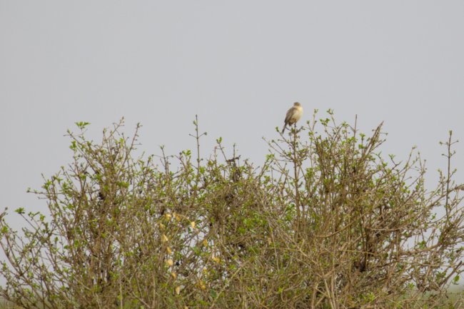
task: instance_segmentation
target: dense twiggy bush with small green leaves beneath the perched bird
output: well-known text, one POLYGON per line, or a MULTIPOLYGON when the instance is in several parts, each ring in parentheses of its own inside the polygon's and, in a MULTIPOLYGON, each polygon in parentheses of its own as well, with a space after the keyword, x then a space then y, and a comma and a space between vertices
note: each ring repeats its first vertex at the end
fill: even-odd
POLYGON ((21 308, 453 308, 463 209, 448 166, 434 190, 415 155, 381 156, 327 119, 268 141, 262 166, 228 156, 134 158, 121 123, 46 179, 49 216, 1 214, 1 290, 21 308), (318 131, 321 132, 318 132, 318 131), (171 165, 172 164, 172 165, 171 165), (174 166, 174 167, 173 167, 174 166), (443 210, 443 211, 440 211, 443 210))

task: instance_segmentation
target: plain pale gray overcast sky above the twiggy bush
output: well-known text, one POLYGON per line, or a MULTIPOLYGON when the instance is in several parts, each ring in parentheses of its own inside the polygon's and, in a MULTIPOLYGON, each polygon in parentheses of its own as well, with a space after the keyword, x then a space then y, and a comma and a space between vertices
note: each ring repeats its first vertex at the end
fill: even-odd
MULTIPOLYGON (((223 137, 263 161, 293 101, 333 108, 383 150, 417 145, 430 181, 445 167, 438 141, 453 129, 464 182, 464 1, 17 1, 0 0, 0 208, 71 161, 66 128, 89 134, 126 117, 141 147, 203 153, 223 137)), ((323 113, 321 113, 323 116, 323 113)))

